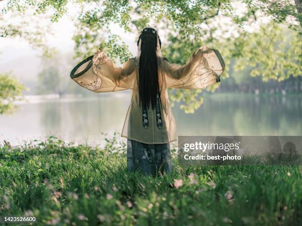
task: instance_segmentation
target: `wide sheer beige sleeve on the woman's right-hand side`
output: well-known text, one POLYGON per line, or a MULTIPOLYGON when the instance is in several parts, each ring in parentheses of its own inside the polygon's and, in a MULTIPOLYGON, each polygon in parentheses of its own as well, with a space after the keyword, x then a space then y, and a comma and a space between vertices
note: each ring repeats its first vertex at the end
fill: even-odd
POLYGON ((167 87, 175 89, 206 88, 220 82, 225 63, 216 49, 206 46, 196 50, 185 65, 163 61, 167 87))

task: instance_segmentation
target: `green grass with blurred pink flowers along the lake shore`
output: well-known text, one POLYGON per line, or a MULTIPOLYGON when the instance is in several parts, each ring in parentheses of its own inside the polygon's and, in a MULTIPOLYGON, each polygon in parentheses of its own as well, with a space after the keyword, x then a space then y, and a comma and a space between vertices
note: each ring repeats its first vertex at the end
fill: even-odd
POLYGON ((172 175, 151 178, 127 173, 125 148, 115 138, 100 149, 55 137, 1 146, 0 215, 35 216, 41 226, 302 222, 299 166, 178 166, 173 151, 172 175))

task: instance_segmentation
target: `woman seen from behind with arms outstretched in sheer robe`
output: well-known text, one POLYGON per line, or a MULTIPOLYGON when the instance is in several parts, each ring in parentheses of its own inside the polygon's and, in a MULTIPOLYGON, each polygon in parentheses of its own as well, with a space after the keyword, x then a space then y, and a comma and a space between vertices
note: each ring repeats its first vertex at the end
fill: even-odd
POLYGON ((218 50, 197 49, 185 65, 170 64, 161 56, 161 40, 153 28, 138 38, 137 57, 122 67, 101 48, 76 65, 71 78, 96 93, 131 90, 131 103, 122 129, 127 138, 127 169, 145 175, 171 173, 169 143, 177 139, 167 88, 198 89, 220 82, 225 69, 218 50))

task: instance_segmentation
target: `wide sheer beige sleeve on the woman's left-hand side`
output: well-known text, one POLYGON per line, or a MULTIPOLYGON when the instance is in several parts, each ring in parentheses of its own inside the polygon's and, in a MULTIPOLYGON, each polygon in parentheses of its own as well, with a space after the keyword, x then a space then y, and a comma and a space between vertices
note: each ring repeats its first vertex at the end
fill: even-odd
POLYGON ((135 87, 135 59, 129 59, 116 67, 101 48, 80 62, 71 71, 71 78, 88 90, 96 93, 114 92, 135 87))

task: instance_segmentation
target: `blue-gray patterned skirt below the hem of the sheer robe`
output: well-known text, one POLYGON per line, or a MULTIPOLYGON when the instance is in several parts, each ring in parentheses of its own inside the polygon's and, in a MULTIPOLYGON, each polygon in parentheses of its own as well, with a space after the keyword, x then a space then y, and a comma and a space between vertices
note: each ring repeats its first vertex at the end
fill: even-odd
POLYGON ((145 144, 127 139, 128 172, 140 171, 156 176, 172 171, 170 144, 145 144))

